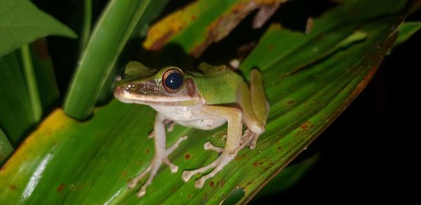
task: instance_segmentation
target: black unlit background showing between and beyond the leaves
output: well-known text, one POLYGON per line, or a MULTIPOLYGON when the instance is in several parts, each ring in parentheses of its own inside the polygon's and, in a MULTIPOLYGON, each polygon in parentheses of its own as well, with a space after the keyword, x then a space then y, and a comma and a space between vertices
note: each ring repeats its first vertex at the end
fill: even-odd
MULTIPOLYGON (((94 17, 106 2, 93 1, 94 17)), ((170 1, 165 12, 186 2, 170 1)), ((34 3, 79 33, 81 1, 35 0, 34 3)), ((330 1, 290 1, 281 6, 272 20, 302 30, 309 16, 316 17, 334 5, 330 1)), ((227 39, 210 46, 203 53, 203 60, 226 58, 234 50, 222 47, 236 48, 258 39, 265 29, 248 30, 251 20, 251 16, 246 18, 227 39)), ((408 20, 421 20, 420 12, 410 15, 408 20)), ((301 154, 304 156, 301 159, 316 152, 320 157, 298 184, 287 192, 256 198, 251 204, 406 204, 416 199, 420 192, 414 171, 420 161, 415 157, 420 123, 417 119, 420 103, 416 100, 420 93, 417 81, 420 41, 421 32, 418 32, 387 55, 363 93, 301 154)), ((48 43, 55 68, 60 67, 60 71, 56 70, 60 93, 65 93, 77 58, 77 41, 48 37, 48 43)))

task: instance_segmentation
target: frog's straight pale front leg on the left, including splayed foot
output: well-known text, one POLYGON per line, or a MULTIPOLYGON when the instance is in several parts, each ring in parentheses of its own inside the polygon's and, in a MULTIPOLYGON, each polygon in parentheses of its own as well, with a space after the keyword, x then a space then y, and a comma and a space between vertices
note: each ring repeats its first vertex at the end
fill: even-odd
POLYGON ((138 184, 139 180, 147 175, 150 172, 149 178, 147 179, 146 183, 140 188, 138 192, 138 197, 142 197, 146 193, 146 188, 151 185, 152 180, 156 176, 156 172, 158 171, 159 167, 162 163, 167 164, 171 168, 171 172, 175 173, 178 171, 178 166, 171 163, 170 159, 168 159, 168 155, 171 154, 175 150, 175 148, 180 145, 182 140, 186 140, 187 136, 182 136, 175 142, 171 147, 166 149, 166 131, 165 131, 165 122, 166 118, 163 117, 162 114, 157 113, 155 118, 155 125, 154 125, 154 144, 155 144, 155 155, 154 159, 152 159, 151 164, 142 171, 138 176, 133 178, 128 182, 128 187, 133 188, 135 185, 138 184))

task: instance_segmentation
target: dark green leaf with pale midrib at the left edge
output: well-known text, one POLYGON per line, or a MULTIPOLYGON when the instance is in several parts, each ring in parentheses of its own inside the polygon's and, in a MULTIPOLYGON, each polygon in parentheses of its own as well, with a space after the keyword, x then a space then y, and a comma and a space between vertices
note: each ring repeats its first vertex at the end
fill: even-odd
POLYGON ((22 48, 0 58, 0 72, 4 74, 0 81, 0 126, 13 145, 18 145, 58 99, 45 39, 22 48))

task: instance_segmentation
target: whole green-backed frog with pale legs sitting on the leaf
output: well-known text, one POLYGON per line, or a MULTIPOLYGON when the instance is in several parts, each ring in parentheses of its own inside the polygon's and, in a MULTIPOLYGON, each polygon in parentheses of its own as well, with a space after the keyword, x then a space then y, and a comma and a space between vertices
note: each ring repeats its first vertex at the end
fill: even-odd
POLYGON ((187 136, 166 147, 166 124, 173 122, 201 130, 227 124, 225 147, 209 141, 203 145, 204 150, 218 152, 218 158, 201 168, 182 172, 185 182, 196 174, 203 175, 194 182, 197 188, 203 187, 206 180, 225 168, 244 147, 255 148, 259 135, 265 131, 269 102, 258 69, 250 71, 250 84, 237 70, 206 62, 195 70, 182 70, 175 66, 152 69, 131 61, 123 71, 122 78, 114 86, 115 98, 125 103, 149 105, 156 110, 150 135, 154 138, 154 158, 145 170, 128 181, 128 188, 134 188, 149 173, 137 192, 138 197, 145 195, 162 164, 169 166, 172 173, 178 172, 178 166, 168 156, 187 140, 187 136))

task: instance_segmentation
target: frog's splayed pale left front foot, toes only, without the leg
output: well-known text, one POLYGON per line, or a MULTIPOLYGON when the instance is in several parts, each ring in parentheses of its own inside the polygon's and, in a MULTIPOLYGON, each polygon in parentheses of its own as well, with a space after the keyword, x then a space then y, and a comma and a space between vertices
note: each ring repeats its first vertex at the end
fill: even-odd
POLYGON ((150 173, 149 178, 147 179, 146 183, 142 185, 142 187, 140 188, 137 194, 138 197, 143 197, 143 195, 145 195, 146 188, 149 185, 151 185, 152 180, 156 176, 156 172, 158 171, 162 163, 167 164, 171 168, 172 173, 175 173, 178 171, 178 166, 171 163, 170 159, 168 159, 168 155, 170 155, 175 150, 175 148, 177 148, 178 145, 180 145, 180 143, 183 140, 187 140, 187 136, 182 136, 181 138, 177 140, 177 142, 175 142, 173 145, 171 145, 171 147, 169 147, 166 150, 155 150, 155 156, 154 156, 154 159, 152 159, 152 163, 145 169, 145 171, 142 171, 142 173, 140 173, 138 176, 128 181, 128 187, 133 188, 138 184, 138 182, 143 177, 147 175, 147 173, 150 173))

